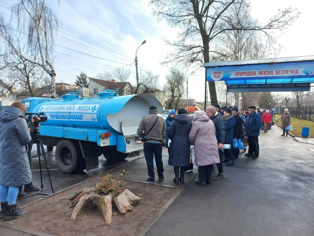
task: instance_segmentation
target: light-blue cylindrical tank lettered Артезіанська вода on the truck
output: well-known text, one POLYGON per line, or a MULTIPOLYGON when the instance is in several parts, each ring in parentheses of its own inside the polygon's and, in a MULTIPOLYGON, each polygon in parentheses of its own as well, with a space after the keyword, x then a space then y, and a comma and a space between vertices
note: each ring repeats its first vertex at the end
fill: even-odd
POLYGON ((133 120, 133 126, 138 127, 140 120, 149 115, 151 105, 159 112, 162 110, 161 103, 147 94, 117 96, 114 91, 106 90, 98 96, 78 98, 72 94, 63 95, 62 99, 38 104, 31 112, 45 113, 48 121, 41 123, 42 126, 111 129, 123 133, 122 120, 133 120))

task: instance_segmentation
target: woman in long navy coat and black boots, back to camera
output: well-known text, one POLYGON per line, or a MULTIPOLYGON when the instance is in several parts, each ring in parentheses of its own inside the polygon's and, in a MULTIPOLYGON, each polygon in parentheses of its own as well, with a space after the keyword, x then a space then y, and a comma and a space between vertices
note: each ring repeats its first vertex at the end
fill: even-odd
POLYGON ((168 130, 168 137, 171 140, 169 161, 168 164, 173 166, 175 178, 173 182, 184 182, 185 167, 190 164, 190 140, 189 133, 192 127, 192 122, 187 116, 187 111, 181 108, 178 115, 173 118, 173 121, 168 130), (180 169, 180 178, 179 178, 180 169))

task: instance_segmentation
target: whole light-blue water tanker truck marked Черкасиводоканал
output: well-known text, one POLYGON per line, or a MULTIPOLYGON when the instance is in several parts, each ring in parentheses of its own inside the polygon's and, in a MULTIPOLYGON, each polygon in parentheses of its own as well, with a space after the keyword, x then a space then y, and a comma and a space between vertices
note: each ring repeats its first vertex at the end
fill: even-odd
POLYGON ((118 96, 109 89, 97 98, 70 92, 61 99, 26 98, 22 103, 28 112, 48 117, 40 133, 48 151, 56 146, 56 163, 64 173, 98 168, 101 155, 112 162, 138 155, 143 149, 136 133, 139 122, 151 105, 162 110, 153 96, 118 96))

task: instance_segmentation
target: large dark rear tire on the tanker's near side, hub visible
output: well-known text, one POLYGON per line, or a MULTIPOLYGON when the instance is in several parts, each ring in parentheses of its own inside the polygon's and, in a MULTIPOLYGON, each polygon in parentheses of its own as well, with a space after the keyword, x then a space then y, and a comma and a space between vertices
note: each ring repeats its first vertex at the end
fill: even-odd
POLYGON ((71 174, 86 169, 86 162, 78 143, 68 139, 59 141, 56 147, 56 163, 60 171, 71 174))

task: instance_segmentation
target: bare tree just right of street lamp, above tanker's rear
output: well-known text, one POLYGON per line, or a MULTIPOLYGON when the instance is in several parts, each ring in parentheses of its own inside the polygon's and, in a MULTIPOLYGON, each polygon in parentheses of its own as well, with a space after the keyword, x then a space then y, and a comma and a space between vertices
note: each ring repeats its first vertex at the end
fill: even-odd
POLYGON ((138 86, 135 87, 134 93, 154 93, 160 90, 159 75, 153 74, 150 70, 142 70, 138 86))

